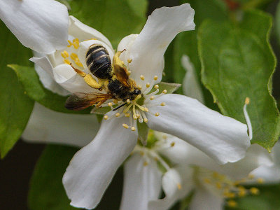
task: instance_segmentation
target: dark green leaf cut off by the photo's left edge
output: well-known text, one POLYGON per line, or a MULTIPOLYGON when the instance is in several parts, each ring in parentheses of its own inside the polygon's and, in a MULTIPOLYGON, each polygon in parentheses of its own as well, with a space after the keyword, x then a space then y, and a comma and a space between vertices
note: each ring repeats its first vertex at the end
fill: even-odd
POLYGON ((31 64, 31 50, 22 46, 0 21, 0 153, 3 158, 25 130, 34 102, 7 64, 31 64))

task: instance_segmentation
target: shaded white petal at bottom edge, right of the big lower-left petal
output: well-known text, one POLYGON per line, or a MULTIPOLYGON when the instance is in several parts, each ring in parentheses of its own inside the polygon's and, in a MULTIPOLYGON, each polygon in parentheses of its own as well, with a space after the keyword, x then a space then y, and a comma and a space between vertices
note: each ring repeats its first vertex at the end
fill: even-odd
POLYGON ((136 153, 125 163, 120 209, 146 210, 148 202, 160 196, 162 174, 155 160, 149 160, 148 165, 144 166, 144 158, 136 153))

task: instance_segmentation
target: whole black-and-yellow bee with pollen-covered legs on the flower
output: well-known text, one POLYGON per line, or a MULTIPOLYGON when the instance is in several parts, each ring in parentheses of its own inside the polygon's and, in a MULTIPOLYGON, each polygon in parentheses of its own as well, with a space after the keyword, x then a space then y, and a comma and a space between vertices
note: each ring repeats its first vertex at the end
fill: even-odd
POLYGON ((109 52, 104 46, 97 44, 90 45, 85 55, 85 62, 90 73, 98 78, 98 82, 91 74, 80 71, 71 64, 72 68, 80 76, 83 76, 87 85, 100 91, 105 90, 106 93, 75 92, 66 100, 66 109, 82 110, 92 105, 98 108, 109 99, 117 99, 118 101, 125 102, 116 109, 113 109, 117 110, 126 104, 127 99, 132 101, 137 95, 141 94, 141 90, 139 90, 135 81, 129 77, 125 64, 120 59, 122 52, 116 52, 113 56, 113 64, 111 64, 109 52))

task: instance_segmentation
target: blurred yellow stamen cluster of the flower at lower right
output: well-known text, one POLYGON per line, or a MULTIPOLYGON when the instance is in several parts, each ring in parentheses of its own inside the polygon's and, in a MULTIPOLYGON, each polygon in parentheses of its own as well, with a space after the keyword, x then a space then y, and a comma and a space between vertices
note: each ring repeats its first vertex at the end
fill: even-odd
POLYGON ((199 168, 202 174, 202 182, 204 186, 209 188, 213 193, 224 197, 228 200, 229 207, 236 207, 235 197, 244 197, 246 195, 258 195, 258 188, 245 188, 242 186, 247 181, 256 181, 257 183, 263 183, 263 179, 255 179, 253 174, 249 174, 246 178, 232 181, 228 176, 224 174, 218 174, 217 172, 211 172, 208 169, 199 168))

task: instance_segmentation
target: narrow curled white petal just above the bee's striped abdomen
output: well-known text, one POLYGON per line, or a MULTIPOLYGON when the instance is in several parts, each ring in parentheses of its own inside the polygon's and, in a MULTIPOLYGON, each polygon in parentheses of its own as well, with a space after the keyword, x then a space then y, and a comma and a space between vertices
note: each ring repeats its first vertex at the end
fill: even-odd
POLYGON ((69 20, 69 34, 74 38, 79 38, 80 41, 86 41, 95 38, 99 41, 103 41, 104 43, 109 45, 111 49, 113 49, 108 38, 106 38, 106 36, 97 31, 97 29, 93 29, 92 27, 83 24, 83 22, 80 22, 80 20, 73 16, 69 16, 69 20))

